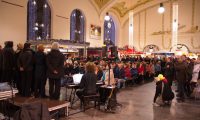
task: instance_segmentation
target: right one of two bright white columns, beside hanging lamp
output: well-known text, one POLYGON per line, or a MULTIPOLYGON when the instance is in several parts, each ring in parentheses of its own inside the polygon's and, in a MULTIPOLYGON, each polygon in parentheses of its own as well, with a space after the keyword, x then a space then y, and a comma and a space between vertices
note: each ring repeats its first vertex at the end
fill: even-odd
POLYGON ((172 47, 178 44, 178 3, 173 3, 172 16, 172 47))

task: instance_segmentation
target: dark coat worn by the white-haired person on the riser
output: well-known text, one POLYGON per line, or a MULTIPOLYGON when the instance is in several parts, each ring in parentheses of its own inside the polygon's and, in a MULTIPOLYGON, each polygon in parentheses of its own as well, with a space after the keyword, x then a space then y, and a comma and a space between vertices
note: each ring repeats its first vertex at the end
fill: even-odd
POLYGON ((47 54, 47 76, 53 79, 60 79, 64 76, 64 55, 59 50, 51 50, 47 54), (58 73, 55 74, 54 71, 58 73))

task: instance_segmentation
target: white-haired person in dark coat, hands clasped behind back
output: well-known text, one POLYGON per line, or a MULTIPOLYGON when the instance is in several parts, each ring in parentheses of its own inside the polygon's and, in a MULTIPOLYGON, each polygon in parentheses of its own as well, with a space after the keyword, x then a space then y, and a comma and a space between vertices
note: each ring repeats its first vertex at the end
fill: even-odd
POLYGON ((61 78, 64 76, 64 60, 64 55, 59 51, 59 44, 54 42, 46 60, 50 99, 59 99, 60 97, 61 78))

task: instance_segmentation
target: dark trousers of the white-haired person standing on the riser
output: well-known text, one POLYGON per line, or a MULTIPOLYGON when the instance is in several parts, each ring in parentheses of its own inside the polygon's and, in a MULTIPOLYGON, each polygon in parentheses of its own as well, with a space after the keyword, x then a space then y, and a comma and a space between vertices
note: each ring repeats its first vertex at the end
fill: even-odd
POLYGON ((49 95, 51 99, 58 100, 60 97, 61 79, 49 78, 49 95))

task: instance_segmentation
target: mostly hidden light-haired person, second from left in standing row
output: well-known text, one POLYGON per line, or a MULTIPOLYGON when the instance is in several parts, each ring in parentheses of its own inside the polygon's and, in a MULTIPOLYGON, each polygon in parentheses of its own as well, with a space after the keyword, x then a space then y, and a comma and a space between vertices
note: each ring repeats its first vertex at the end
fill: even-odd
POLYGON ((14 74, 14 81, 16 83, 17 89, 19 91, 19 94, 21 94, 21 75, 20 75, 20 69, 17 66, 17 61, 19 58, 19 55, 21 54, 23 50, 23 44, 18 44, 17 45, 17 50, 15 51, 15 74, 14 74))

